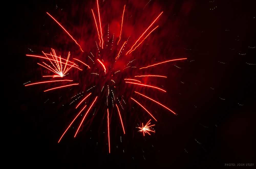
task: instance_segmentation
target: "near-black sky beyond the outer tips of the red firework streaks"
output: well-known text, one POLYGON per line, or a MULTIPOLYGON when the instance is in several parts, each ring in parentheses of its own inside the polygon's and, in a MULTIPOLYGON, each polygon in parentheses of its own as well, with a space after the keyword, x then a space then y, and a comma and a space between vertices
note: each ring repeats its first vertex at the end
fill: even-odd
POLYGON ((136 133, 122 137, 120 143, 120 133, 113 135, 112 144, 119 148, 112 148, 111 154, 107 139, 98 137, 97 129, 91 131, 97 123, 77 139, 67 133, 57 144, 68 123, 62 116, 66 107, 61 108, 63 102, 52 103, 55 96, 45 103, 47 94, 23 85, 37 73, 36 62, 25 54, 34 42, 40 44, 38 27, 47 17, 45 12, 53 11, 57 4, 68 13, 72 2, 10 5, 12 12, 5 13, 8 64, 3 72, 8 109, 3 113, 10 116, 6 128, 11 129, 7 144, 8 158, 14 161, 11 165, 216 168, 225 163, 255 162, 255 3, 177 1, 171 2, 173 10, 164 1, 153 0, 148 5, 156 2, 170 20, 178 22, 177 35, 183 41, 179 48, 188 57, 181 72, 170 66, 177 72, 172 83, 178 87, 172 97, 179 115, 161 119, 156 134, 145 139, 136 133))

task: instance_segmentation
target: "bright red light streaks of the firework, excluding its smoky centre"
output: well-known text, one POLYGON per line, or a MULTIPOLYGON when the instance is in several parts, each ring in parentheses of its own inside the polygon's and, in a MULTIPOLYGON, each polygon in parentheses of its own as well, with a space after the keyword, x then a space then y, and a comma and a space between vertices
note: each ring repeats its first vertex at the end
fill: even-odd
MULTIPOLYGON (((95 18, 93 9, 91 9, 91 11, 92 11, 93 19, 94 19, 94 21, 95 21, 95 26, 96 26, 96 30, 97 30, 97 33, 98 33, 98 37, 99 37, 99 46, 103 49, 103 45, 104 45, 103 42, 104 42, 104 40, 103 40, 103 34, 102 34, 102 26, 101 26, 100 10, 99 10, 98 0, 97 0, 97 11, 98 11, 98 19, 99 19, 98 23, 99 23, 99 24, 97 24, 97 19, 95 18), (100 31, 99 31, 99 30, 100 30, 100 31)), ((122 21, 121 21, 121 30, 120 30, 120 35, 119 35, 119 40, 118 40, 118 42, 117 42, 117 45, 118 45, 119 41, 121 40, 121 33, 122 33, 122 27, 123 27, 124 13, 125 13, 125 5, 124 5, 124 8, 123 8, 123 15, 122 15, 122 21)), ((126 53, 125 55, 130 54, 131 52, 133 52, 133 51, 134 51, 140 44, 142 44, 143 41, 158 27, 158 26, 156 26, 156 27, 155 27, 154 29, 152 29, 150 32, 148 31, 149 29, 151 29, 151 26, 156 22, 156 20, 162 15, 162 13, 163 13, 163 12, 161 12, 161 13, 155 18, 155 20, 147 27, 147 29, 142 33, 142 35, 137 39, 137 41, 134 43, 134 45, 131 47, 131 49, 130 49, 129 51, 127 51, 127 53, 126 53), (148 33, 147 35, 144 35, 144 34, 146 34, 146 32, 149 32, 149 33, 148 33)), ((80 50, 83 52, 81 46, 80 46, 80 45, 78 44, 78 42, 70 35, 70 33, 69 33, 54 17, 52 17, 48 12, 47 12, 47 14, 48 14, 48 15, 49 15, 49 16, 50 16, 50 17, 51 17, 51 18, 52 18, 52 19, 53 19, 53 20, 54 20, 71 38, 72 38, 72 40, 79 46, 80 50)), ((120 48, 120 50, 117 50, 117 51, 119 51, 119 53, 118 53, 117 56, 115 57, 115 60, 117 60, 117 59, 120 57, 120 55, 121 55, 121 54, 120 54, 120 53, 121 53, 121 50, 123 49, 123 47, 124 47, 124 45, 125 45, 126 43, 127 43, 127 40, 124 41, 124 43, 122 43, 123 45, 122 45, 122 47, 120 48)), ((86 64, 86 63, 84 63, 83 61, 80 61, 80 60, 78 60, 78 59, 76 59, 76 58, 72 58, 72 59, 73 59, 72 61, 74 61, 74 62, 71 62, 71 61, 70 61, 70 52, 68 53, 66 59, 64 59, 64 58, 61 57, 60 55, 57 56, 57 54, 56 54, 56 52, 55 52, 54 49, 51 49, 51 52, 50 52, 50 53, 44 53, 44 52, 42 52, 42 53, 44 54, 44 56, 27 54, 27 56, 29 56, 29 57, 37 57, 37 58, 41 58, 41 59, 44 59, 44 60, 46 60, 46 61, 49 62, 48 64, 45 63, 45 62, 37 63, 38 65, 40 65, 40 66, 46 68, 47 70, 49 70, 49 71, 52 73, 52 75, 47 75, 47 76, 42 76, 42 77, 64 78, 65 76, 68 75, 68 72, 69 72, 71 69, 72 69, 73 71, 75 71, 75 70, 82 71, 82 69, 81 69, 82 66, 85 67, 85 68, 88 68, 88 69, 91 68, 91 67, 89 66, 89 64, 86 64), (77 62, 77 63, 75 63, 75 62, 77 62), (82 64, 82 66, 81 66, 81 65, 79 66, 79 64, 82 64)), ((89 56, 88 56, 88 57, 89 57, 89 56)), ((94 57, 94 56, 93 56, 93 57, 94 57)), ((95 57, 94 57, 94 58, 95 58, 95 57)), ((90 58, 90 59, 91 59, 91 58, 90 58)), ((139 69, 145 69, 145 68, 148 68, 148 67, 156 66, 156 65, 159 65, 159 64, 167 63, 167 62, 179 61, 179 60, 185 60, 185 59, 187 59, 187 58, 180 58, 180 59, 167 60, 167 61, 163 61, 163 62, 161 62, 161 63, 149 65, 149 66, 146 66, 146 67, 141 67, 141 68, 139 68, 139 69)), ((91 59, 91 60, 92 60, 92 59, 91 59)), ((100 64, 101 67, 103 68, 105 74, 107 73, 107 71, 111 71, 111 70, 109 70, 108 67, 106 67, 106 66, 104 65, 104 62, 103 62, 102 59, 97 58, 97 59, 95 59, 95 60, 97 60, 97 61, 99 62, 99 64, 100 64), (108 70, 107 70, 107 69, 108 69, 108 70)), ((93 60, 92 60, 92 61, 93 61, 93 60)), ((129 63, 130 63, 130 62, 129 62, 129 63)), ((128 63, 128 64, 129 64, 129 63, 128 63)), ((94 62, 93 62, 93 64, 94 64, 94 62)), ((128 65, 128 64, 127 64, 127 65, 128 65)), ((95 66, 97 66, 97 64, 95 64, 95 66)), ((120 71, 117 71, 117 72, 120 72, 120 71)), ((117 73, 117 72, 115 72, 115 73, 117 73)), ((114 73, 114 74, 115 74, 115 73, 114 73)), ((99 75, 99 74, 97 74, 97 73, 91 73, 91 74, 99 75)), ((129 84, 129 85, 136 85, 136 86, 140 86, 140 87, 151 88, 151 89, 153 89, 153 90, 154 90, 154 89, 157 89, 157 90, 159 90, 160 92, 166 92, 164 89, 161 89, 161 88, 156 87, 156 86, 144 84, 144 83, 142 83, 140 80, 134 79, 134 78, 140 78, 140 77, 142 77, 142 78, 143 78, 143 77, 167 78, 167 76, 163 76, 163 75, 136 75, 136 76, 134 76, 134 77, 127 77, 127 78, 125 78, 125 79, 124 79, 124 82, 125 82, 124 84, 127 84, 127 85, 128 85, 128 84, 129 84)), ((48 81, 41 81, 41 82, 30 83, 30 84, 27 84, 27 85, 25 85, 25 86, 31 86, 31 85, 37 85, 37 84, 44 84, 44 83, 50 83, 50 84, 51 84, 51 83, 55 83, 55 82, 71 82, 71 81, 73 81, 73 80, 48 80, 48 81)), ((114 81, 113 79, 111 79, 111 81, 112 81, 113 83, 115 83, 115 81, 114 81)), ((51 89, 47 89, 47 90, 45 90, 45 92, 46 92, 46 91, 50 91, 50 90, 55 90, 55 89, 58 89, 58 88, 66 88, 66 87, 73 86, 73 85, 79 85, 79 84, 78 84, 78 83, 66 84, 66 85, 63 85, 63 86, 58 86, 58 87, 54 87, 54 88, 51 88, 51 89)), ((109 96, 109 94, 110 94, 110 88, 109 88, 108 85, 105 85, 105 84, 104 84, 104 86, 107 86, 108 96, 109 96)), ((102 89, 100 88, 100 89, 101 89, 101 92, 102 92, 104 86, 102 87, 102 89)), ((106 87, 105 87, 105 88, 106 88, 106 87)), ((112 90, 111 90, 111 92, 112 92, 112 90)), ((138 96, 142 96, 143 98, 148 99, 148 100, 150 100, 150 101, 153 101, 154 103, 156 103, 156 104, 158 104, 158 105, 164 107, 164 108, 167 109, 168 111, 172 112, 174 115, 176 114, 173 110, 171 110, 170 108, 164 106, 163 104, 159 103, 158 101, 154 100, 153 98, 150 98, 150 97, 146 96, 145 94, 139 93, 139 92, 137 92, 137 91, 134 91, 134 93, 137 94, 138 96)), ((112 95, 113 95, 113 97, 111 96, 111 98, 112 98, 112 103, 113 103, 113 99, 115 100, 115 98, 117 98, 117 97, 114 96, 114 93, 113 93, 113 92, 112 92, 112 95)), ((91 97, 91 96, 92 96, 92 93, 89 93, 88 95, 86 95, 86 97, 84 97, 84 98, 76 105, 76 109, 77 109, 79 106, 81 107, 81 105, 83 105, 83 103, 84 103, 84 100, 86 100, 88 97, 91 97)), ((107 96, 107 104, 108 104, 108 96, 107 96)), ((61 141, 61 139, 63 138, 63 136, 65 135, 65 133, 68 131, 68 129, 70 128, 70 126, 73 124, 73 122, 74 122, 74 121, 78 118, 78 116, 83 112, 83 110, 89 107, 89 108, 87 109, 86 113, 84 114, 84 116, 83 116, 83 118, 82 118, 82 120, 81 120, 81 122, 80 122, 80 125, 79 125, 79 127, 77 128, 77 130, 76 130, 76 133, 74 134, 74 137, 77 136, 77 134, 78 134, 78 132, 79 132, 79 130, 80 130, 82 124, 83 124, 83 121, 85 120, 85 118, 86 118, 86 116, 87 116, 87 114, 89 113, 89 111, 90 111, 90 109, 92 108, 92 106, 95 106, 96 101, 97 101, 97 98, 99 98, 99 94, 97 94, 97 96, 93 96, 92 102, 91 102, 91 104, 90 104, 89 106, 87 106, 87 105, 83 105, 83 106, 82 106, 81 110, 80 110, 80 111, 78 112, 78 114, 74 117, 74 119, 72 120, 72 122, 68 125, 67 129, 64 131, 64 133, 63 133, 63 134, 61 135, 61 137, 59 138, 58 143, 61 141)), ((143 106, 140 102, 138 102, 137 100, 135 100, 135 99, 132 98, 132 97, 130 97, 130 99, 131 99, 132 101, 134 101, 136 104, 138 104, 142 109, 144 109, 144 110, 148 113, 148 115, 149 115, 150 117, 152 117, 155 121, 157 121, 156 118, 152 115, 152 113, 151 113, 149 110, 147 110, 147 109, 145 108, 145 105, 143 106)), ((117 110, 118 115, 119 115, 119 118, 120 118, 121 128, 122 128, 122 130, 123 130, 123 134, 125 134, 125 126, 124 126, 124 124, 123 124, 122 114, 120 113, 118 104, 120 104, 120 102, 116 102, 115 107, 116 107, 116 110, 117 110)), ((120 104, 120 106, 122 107, 121 104, 120 104)), ((114 103, 113 103, 113 107, 114 107, 114 103)), ((123 108, 123 107, 122 107, 122 108, 123 108)), ((108 124, 108 126, 107 126, 107 127, 108 127, 108 142, 109 142, 108 145, 109 145, 109 153, 110 153, 110 126, 109 126, 109 124, 110 124, 110 119, 109 119, 109 108, 107 108, 107 111, 106 111, 106 112, 107 112, 107 120, 108 120, 108 122, 107 122, 107 124, 108 124)), ((150 125, 150 124, 151 124, 150 121, 151 121, 151 120, 149 120, 149 121, 146 123, 146 125, 143 126, 143 123, 142 123, 142 127, 138 127, 139 129, 141 129, 141 130, 139 130, 139 131, 140 131, 140 132, 143 132, 143 135, 145 135, 145 133, 147 133, 147 134, 150 135, 150 132, 155 132, 155 131, 151 130, 151 127, 154 126, 154 125, 150 125)))

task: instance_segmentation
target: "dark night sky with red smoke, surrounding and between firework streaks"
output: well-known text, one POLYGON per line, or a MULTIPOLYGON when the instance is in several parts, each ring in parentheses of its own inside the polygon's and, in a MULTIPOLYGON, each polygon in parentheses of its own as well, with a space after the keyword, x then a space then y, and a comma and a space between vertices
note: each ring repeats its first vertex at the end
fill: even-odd
MULTIPOLYGON (((27 83, 46 80, 42 77, 45 69, 37 65, 42 61, 26 54, 42 55, 42 50, 49 52, 54 48, 64 57, 68 51, 72 57, 80 59, 90 52, 96 57, 95 41, 98 43, 99 39, 91 8, 97 12, 97 2, 27 1, 12 4, 13 13, 6 16, 6 25, 9 26, 5 27, 8 35, 5 43, 8 47, 6 72, 3 72, 7 77, 4 81, 7 84, 5 100, 8 109, 2 112, 9 116, 10 122, 5 128, 11 130, 8 157, 14 164, 58 168, 216 168, 225 167, 225 163, 254 163, 255 3, 221 0, 99 1, 104 38, 108 38, 106 32, 109 27, 109 41, 113 36, 114 40, 119 37, 124 5, 126 12, 120 43, 129 37, 125 51, 164 11, 153 26, 159 25, 156 31, 131 54, 131 58, 123 55, 123 60, 120 60, 126 63, 137 58, 135 66, 142 67, 187 58, 148 70, 148 73, 168 77, 165 80, 154 78, 152 82, 166 89, 167 93, 154 89, 142 91, 161 100, 178 115, 139 99, 156 116, 157 122, 153 121, 129 99, 130 95, 134 98, 135 95, 127 91, 141 88, 121 85, 121 95, 129 96, 124 97, 126 105, 121 109, 126 134, 122 133, 116 110, 110 108, 110 154, 107 106, 103 97, 91 110, 78 136, 74 138, 81 118, 57 143, 78 112, 75 109, 78 100, 85 96, 93 83, 101 84, 102 81, 94 80, 94 76, 84 71, 72 69, 67 76, 86 85, 49 93, 44 90, 56 85, 25 87, 27 83), (69 30, 84 49, 83 53, 46 12, 69 30), (143 136, 136 127, 150 119, 156 124, 153 128, 155 133, 143 136)), ((105 43, 108 44, 107 40, 105 43)), ((120 44, 113 48, 120 49, 120 44)), ((103 51, 101 57, 105 61, 112 54, 103 51)), ((89 58, 86 61, 93 65, 89 58)), ((101 69, 98 66, 95 70, 101 69)), ((132 73, 136 74, 135 70, 131 69, 125 75, 132 73)), ((121 82, 116 82, 116 86, 118 84, 121 82)), ((97 90, 95 88, 94 91, 97 90)), ((112 107, 112 103, 109 104, 112 107)))

